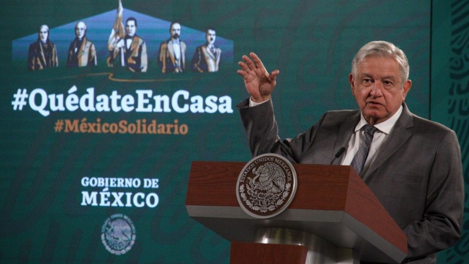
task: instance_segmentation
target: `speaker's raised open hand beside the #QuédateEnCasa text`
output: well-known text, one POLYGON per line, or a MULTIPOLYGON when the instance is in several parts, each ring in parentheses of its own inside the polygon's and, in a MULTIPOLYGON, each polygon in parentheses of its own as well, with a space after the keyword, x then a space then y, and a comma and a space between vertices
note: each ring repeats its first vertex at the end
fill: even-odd
POLYGON ((270 99, 276 85, 275 78, 280 71, 274 70, 269 74, 254 52, 249 55, 252 60, 243 55, 244 62, 238 62, 241 69, 236 72, 243 77, 244 85, 252 100, 256 103, 264 102, 270 99))

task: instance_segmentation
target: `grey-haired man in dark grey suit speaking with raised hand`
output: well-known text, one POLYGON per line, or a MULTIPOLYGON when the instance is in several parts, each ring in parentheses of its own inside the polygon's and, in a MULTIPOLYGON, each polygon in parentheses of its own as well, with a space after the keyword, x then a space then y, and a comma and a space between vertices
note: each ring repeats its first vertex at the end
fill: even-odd
POLYGON ((253 156, 277 153, 298 163, 354 167, 407 236, 405 262, 435 263, 435 253, 459 239, 464 183, 458 139, 408 110, 412 82, 401 49, 365 44, 349 75, 360 110, 328 111, 308 131, 283 141, 271 101, 279 71, 269 74, 254 53, 251 59, 243 56, 237 72, 251 95, 238 108, 253 156), (334 158, 342 147, 346 151, 334 158))

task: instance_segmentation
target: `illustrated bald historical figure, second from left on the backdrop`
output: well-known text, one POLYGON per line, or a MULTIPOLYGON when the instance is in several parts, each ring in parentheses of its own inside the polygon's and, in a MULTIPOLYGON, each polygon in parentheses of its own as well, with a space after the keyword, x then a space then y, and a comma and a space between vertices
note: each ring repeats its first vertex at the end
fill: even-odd
POLYGON ((96 47, 86 38, 85 22, 75 25, 75 40, 70 43, 67 56, 67 67, 96 66, 96 47))

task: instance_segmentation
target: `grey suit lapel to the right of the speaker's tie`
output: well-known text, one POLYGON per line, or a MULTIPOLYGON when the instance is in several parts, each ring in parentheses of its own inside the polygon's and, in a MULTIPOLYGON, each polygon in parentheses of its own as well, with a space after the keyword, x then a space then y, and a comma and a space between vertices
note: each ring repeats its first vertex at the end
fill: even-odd
POLYGON ((412 135, 412 131, 408 128, 413 127, 412 114, 408 110, 405 103, 403 103, 403 111, 401 116, 396 122, 393 130, 389 134, 388 138, 384 141, 381 146, 379 153, 373 163, 370 164, 370 168, 362 176, 363 179, 371 175, 378 167, 380 167, 404 142, 412 135))

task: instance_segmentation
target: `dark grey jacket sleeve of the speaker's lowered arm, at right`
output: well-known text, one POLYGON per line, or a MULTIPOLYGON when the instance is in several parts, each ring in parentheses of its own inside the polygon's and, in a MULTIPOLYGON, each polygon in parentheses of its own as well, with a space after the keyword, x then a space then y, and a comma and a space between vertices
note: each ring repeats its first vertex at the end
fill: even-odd
POLYGON ((450 130, 438 144, 428 177, 424 215, 404 228, 409 260, 448 248, 461 236, 464 211, 461 150, 456 134, 450 130))

